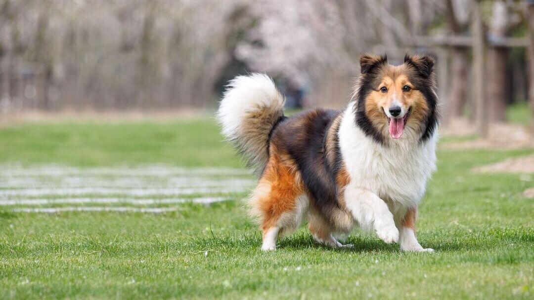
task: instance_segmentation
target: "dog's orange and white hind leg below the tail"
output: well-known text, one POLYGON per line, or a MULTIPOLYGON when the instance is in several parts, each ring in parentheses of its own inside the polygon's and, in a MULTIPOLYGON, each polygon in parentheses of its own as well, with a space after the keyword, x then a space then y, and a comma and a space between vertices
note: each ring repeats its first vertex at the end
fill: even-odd
POLYGON ((260 217, 264 251, 276 249, 278 235, 295 230, 308 209, 308 197, 293 170, 278 155, 271 157, 250 201, 253 214, 260 217))

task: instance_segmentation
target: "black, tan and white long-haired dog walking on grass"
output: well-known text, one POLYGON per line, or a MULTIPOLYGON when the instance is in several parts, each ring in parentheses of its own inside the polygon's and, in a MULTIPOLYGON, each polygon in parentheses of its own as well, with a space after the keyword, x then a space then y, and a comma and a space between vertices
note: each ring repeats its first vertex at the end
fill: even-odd
POLYGON ((434 59, 360 57, 361 74, 342 111, 284 116, 284 97, 266 75, 238 76, 217 118, 223 135, 259 182, 248 204, 260 222, 262 250, 304 219, 316 241, 342 245, 356 225, 408 252, 432 252, 415 235, 417 207, 436 169, 438 99, 434 59))

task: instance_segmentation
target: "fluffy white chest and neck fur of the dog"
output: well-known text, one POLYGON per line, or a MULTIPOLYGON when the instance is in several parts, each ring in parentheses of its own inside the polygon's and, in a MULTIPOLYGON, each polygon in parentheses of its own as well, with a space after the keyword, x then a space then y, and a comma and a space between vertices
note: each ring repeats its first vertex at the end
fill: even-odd
POLYGON ((356 126, 353 105, 344 112, 339 130, 351 184, 372 191, 395 208, 417 206, 436 168, 437 134, 421 144, 406 128, 403 137, 384 147, 356 126))

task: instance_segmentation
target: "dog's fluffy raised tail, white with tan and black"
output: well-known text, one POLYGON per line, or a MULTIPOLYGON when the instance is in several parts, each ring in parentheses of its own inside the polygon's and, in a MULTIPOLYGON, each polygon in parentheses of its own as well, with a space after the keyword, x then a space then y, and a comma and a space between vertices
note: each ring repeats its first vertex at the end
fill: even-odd
POLYGON ((269 134, 284 116, 284 97, 264 74, 237 76, 230 81, 217 111, 226 139, 261 173, 269 160, 269 134))

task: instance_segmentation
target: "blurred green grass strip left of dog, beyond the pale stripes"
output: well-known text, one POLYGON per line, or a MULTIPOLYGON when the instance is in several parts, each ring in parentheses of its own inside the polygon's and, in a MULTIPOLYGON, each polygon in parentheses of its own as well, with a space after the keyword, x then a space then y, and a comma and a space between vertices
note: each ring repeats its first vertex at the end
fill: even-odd
POLYGON ((27 123, 0 130, 0 162, 240 166, 212 120, 27 123))

